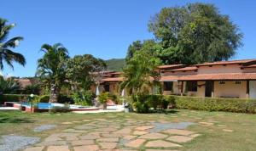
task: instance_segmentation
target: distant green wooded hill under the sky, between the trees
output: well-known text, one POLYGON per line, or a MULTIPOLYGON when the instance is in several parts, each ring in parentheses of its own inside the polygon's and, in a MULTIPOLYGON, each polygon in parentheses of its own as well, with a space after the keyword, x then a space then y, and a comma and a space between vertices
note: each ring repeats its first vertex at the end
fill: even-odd
POLYGON ((125 65, 125 59, 108 59, 105 60, 108 70, 121 71, 125 65))

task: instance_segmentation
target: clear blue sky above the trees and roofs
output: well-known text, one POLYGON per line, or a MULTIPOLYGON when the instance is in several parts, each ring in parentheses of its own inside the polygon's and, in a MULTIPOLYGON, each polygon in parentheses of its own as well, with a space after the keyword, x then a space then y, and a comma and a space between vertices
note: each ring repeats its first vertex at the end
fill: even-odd
POLYGON ((15 51, 26 57, 25 67, 5 66, 4 74, 34 76, 42 44, 61 42, 71 56, 90 53, 97 58, 124 58, 129 44, 154 37, 148 20, 160 8, 186 3, 214 3, 239 26, 244 46, 233 59, 256 59, 256 1, 251 0, 22 0, 1 1, 0 17, 16 23, 10 36, 23 36, 15 51))

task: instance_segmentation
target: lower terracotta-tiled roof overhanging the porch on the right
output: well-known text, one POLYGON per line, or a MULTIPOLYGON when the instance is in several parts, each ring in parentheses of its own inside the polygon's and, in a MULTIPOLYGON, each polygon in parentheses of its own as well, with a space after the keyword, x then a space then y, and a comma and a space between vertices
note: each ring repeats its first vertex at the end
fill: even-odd
POLYGON ((189 76, 162 76, 160 81, 241 81, 256 80, 256 73, 198 74, 189 76))

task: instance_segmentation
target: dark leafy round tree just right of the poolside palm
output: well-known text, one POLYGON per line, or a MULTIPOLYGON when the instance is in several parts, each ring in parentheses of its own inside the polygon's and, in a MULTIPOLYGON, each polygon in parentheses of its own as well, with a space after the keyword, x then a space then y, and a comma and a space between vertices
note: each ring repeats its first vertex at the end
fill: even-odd
POLYGON ((75 91, 89 90, 94 84, 92 73, 106 68, 102 59, 96 59, 90 54, 76 55, 67 62, 67 79, 75 91))

